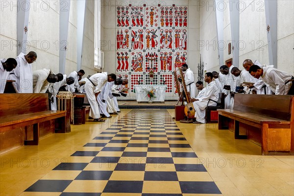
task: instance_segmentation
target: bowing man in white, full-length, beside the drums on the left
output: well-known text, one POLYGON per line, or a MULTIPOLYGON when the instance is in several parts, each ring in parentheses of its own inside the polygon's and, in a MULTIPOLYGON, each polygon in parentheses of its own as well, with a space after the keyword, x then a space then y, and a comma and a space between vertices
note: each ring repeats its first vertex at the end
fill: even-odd
POLYGON ((100 94, 102 87, 106 85, 107 82, 113 82, 116 80, 116 74, 95 73, 90 78, 86 80, 85 92, 89 103, 91 105, 89 116, 94 119, 94 122, 104 122, 105 120, 100 118, 99 104, 97 102, 97 97, 100 94))

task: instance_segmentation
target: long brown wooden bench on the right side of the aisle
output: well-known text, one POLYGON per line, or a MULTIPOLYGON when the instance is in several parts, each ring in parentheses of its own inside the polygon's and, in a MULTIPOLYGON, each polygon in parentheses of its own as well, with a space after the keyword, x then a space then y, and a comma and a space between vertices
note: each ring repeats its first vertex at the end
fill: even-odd
POLYGON ((260 145, 263 155, 294 154, 294 96, 235 94, 233 110, 218 111, 219 129, 260 145))

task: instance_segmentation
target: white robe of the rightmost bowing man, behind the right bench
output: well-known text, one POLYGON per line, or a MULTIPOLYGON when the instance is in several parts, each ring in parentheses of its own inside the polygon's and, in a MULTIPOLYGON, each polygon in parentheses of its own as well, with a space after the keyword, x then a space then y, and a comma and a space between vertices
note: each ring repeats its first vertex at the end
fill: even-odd
POLYGON ((279 71, 273 66, 265 65, 263 68, 263 75, 260 79, 270 88, 275 95, 287 95, 292 82, 285 82, 292 78, 292 75, 286 72, 279 71))

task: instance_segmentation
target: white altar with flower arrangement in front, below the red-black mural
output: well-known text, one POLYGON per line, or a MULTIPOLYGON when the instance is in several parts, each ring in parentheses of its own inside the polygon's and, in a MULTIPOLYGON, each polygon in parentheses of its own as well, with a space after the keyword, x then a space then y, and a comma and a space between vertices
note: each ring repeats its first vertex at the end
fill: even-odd
POLYGON ((135 93, 136 93, 136 99, 138 102, 148 101, 149 98, 147 96, 146 90, 155 91, 155 97, 152 98, 152 101, 160 101, 164 102, 165 100, 165 93, 168 86, 166 85, 135 85, 135 93))

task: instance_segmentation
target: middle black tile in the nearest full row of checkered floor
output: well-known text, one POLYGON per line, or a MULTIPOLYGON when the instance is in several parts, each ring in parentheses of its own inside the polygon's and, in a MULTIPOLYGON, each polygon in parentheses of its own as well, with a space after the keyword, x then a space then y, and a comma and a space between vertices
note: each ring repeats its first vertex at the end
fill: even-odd
POLYGON ((142 193, 143 181, 109 180, 103 193, 142 193))

